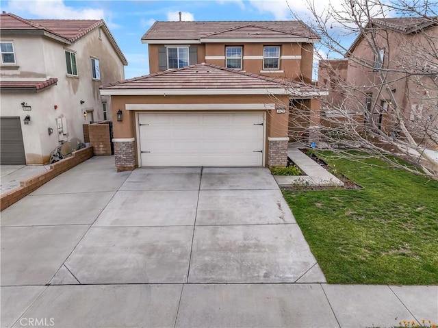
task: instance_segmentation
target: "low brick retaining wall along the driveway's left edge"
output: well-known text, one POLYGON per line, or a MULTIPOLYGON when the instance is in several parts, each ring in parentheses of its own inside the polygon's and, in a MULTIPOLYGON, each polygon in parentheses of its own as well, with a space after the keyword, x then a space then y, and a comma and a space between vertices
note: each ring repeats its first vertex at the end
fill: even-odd
POLYGON ((13 203, 16 203, 23 197, 27 196, 34 190, 40 188, 46 182, 49 182, 57 175, 64 173, 65 171, 70 170, 80 164, 81 162, 88 160, 88 158, 93 156, 92 147, 87 147, 83 149, 79 149, 78 151, 73 151, 70 157, 64 158, 64 160, 60 160, 60 162, 56 162, 51 164, 50 170, 40 173, 35 177, 31 177, 25 181, 20 182, 20 186, 7 192, 6 194, 2 194, 0 198, 0 211, 3 211, 6 207, 9 207, 13 203))

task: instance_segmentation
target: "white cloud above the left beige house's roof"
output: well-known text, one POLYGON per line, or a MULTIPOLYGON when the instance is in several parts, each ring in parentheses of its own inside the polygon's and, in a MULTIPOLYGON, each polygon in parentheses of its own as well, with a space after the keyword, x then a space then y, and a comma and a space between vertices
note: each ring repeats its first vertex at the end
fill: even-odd
POLYGON ((31 14, 38 18, 105 19, 103 9, 73 8, 66 5, 63 0, 10 0, 8 10, 14 14, 23 16, 31 14))

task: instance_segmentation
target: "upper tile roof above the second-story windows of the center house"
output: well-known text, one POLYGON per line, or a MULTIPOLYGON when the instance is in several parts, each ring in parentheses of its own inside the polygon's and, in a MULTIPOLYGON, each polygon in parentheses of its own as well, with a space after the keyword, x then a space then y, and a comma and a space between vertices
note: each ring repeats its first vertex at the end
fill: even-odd
POLYGON ((198 40, 201 38, 319 39, 302 21, 155 22, 142 40, 198 40))

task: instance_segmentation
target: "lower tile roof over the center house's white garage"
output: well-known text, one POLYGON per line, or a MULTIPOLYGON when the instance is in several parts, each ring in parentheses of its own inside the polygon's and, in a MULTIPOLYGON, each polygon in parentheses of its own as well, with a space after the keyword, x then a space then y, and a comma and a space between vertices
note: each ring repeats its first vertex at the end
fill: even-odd
POLYGON ((101 86, 102 89, 263 89, 285 88, 300 91, 315 91, 313 86, 300 82, 274 79, 263 75, 236 71, 213 64, 196 64, 184 68, 144 75, 125 81, 117 81, 101 86))

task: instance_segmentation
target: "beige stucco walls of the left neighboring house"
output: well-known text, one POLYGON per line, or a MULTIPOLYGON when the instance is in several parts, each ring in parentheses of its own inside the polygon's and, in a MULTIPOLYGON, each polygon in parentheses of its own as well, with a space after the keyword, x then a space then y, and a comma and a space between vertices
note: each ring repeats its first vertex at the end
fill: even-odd
POLYGON ((83 112, 92 111, 94 121, 103 121, 102 101, 107 101, 108 119, 112 118, 111 98, 101 97, 99 86, 124 79, 124 66, 103 30, 100 39, 99 29, 94 29, 68 46, 49 38, 34 36, 14 36, 2 40, 14 40, 19 66, 15 70, 3 70, 2 66, 2 79, 58 79, 57 85, 38 93, 1 93, 1 116, 21 117, 27 164, 48 162, 51 151, 57 147, 58 138, 55 133, 49 136, 47 128, 52 127, 56 131, 56 118, 66 118, 68 140, 81 142, 82 124, 87 123, 83 112), (77 77, 68 77, 66 74, 65 49, 77 54, 77 77), (99 81, 92 79, 92 57, 99 59, 99 81), (23 101, 31 105, 31 112, 23 112, 20 105, 23 101), (81 101, 85 103, 81 104, 81 101), (25 114, 31 116, 29 125, 23 125, 25 114))

